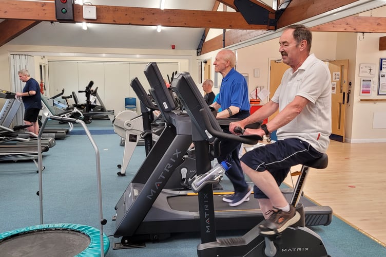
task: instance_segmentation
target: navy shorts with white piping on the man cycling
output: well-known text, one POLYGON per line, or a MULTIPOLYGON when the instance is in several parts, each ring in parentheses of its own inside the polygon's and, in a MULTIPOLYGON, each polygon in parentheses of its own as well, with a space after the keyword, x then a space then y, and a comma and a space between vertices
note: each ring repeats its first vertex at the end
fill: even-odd
MULTIPOLYGON (((240 160, 257 172, 267 170, 280 186, 292 166, 320 158, 322 155, 309 143, 296 138, 288 138, 246 152, 240 160)), ((256 186, 254 196, 255 198, 268 198, 256 186)))

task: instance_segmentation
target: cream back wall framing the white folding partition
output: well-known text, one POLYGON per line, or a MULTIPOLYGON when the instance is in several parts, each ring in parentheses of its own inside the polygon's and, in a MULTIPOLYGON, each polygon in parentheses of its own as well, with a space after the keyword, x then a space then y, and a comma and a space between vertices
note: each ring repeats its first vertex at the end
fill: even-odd
MULTIPOLYGON (((30 54, 34 56, 35 74, 31 74, 31 76, 36 79, 40 77, 38 68, 40 63, 48 65, 49 61, 142 62, 143 68, 148 62, 173 62, 178 63, 179 72, 190 72, 196 82, 198 78, 195 50, 115 49, 6 44, 0 47, 0 76, 3 82, 0 89, 3 90, 11 90, 12 88, 10 85, 10 54, 30 54)), ((170 75, 171 71, 169 76, 170 75)), ((129 78, 129 80, 126 81, 127 85, 131 79, 132 78, 129 78)), ((47 88, 51 88, 49 81, 45 83, 47 88)), ((53 96, 56 93, 57 92, 52 91, 50 95, 53 96)), ((3 106, 4 103, 5 100, 0 99, 0 106, 3 106)), ((109 108, 108 106, 106 107, 109 108)))

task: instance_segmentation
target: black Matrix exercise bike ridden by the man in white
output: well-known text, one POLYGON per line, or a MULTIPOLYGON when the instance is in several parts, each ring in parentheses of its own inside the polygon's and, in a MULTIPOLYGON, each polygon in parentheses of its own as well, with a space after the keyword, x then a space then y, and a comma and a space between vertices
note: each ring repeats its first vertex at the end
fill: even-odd
MULTIPOLYGON (((209 141, 214 142, 215 156, 218 156, 221 140, 236 140, 248 144, 256 144, 262 140, 260 136, 256 135, 237 136, 223 133, 216 119, 210 114, 198 87, 187 72, 175 76, 171 87, 181 98, 191 118, 192 137, 195 138, 198 153, 208 151, 209 141)), ((324 169, 327 163, 326 154, 315 161, 302 163, 301 174, 290 201, 290 204, 296 206, 297 211, 301 214, 301 219, 281 234, 272 236, 260 235, 257 225, 241 237, 218 239, 211 185, 216 180, 207 180, 206 185, 199 191, 201 243, 197 247, 198 256, 329 256, 320 236, 304 226, 303 207, 298 205, 309 168, 324 169)), ((210 169, 207 155, 196 155, 196 164, 200 175, 210 175, 205 174, 205 171, 210 169)))

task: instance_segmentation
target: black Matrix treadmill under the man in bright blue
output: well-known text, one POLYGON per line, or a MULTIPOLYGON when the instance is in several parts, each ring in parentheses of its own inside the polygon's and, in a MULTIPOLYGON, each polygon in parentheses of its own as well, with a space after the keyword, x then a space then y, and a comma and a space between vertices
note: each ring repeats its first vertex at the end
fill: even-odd
MULTIPOLYGON (((181 162, 181 156, 192 141, 190 118, 186 113, 172 111, 175 103, 157 64, 149 63, 144 72, 151 86, 151 93, 168 125, 115 206, 117 213, 113 216, 113 235, 122 238, 121 243, 114 243, 113 249, 125 248, 147 240, 161 240, 171 233, 200 231, 197 194, 164 189, 172 171, 181 162), (176 134, 174 138, 171 139, 169 135, 167 140, 164 140, 164 134, 167 133, 176 134), (160 153, 164 153, 163 156, 160 153)), ((172 84, 176 82, 173 81, 172 84)), ((194 82, 191 80, 190 83, 194 82)), ((194 97, 189 101, 195 101, 194 97)), ((200 107, 199 102, 190 104, 200 107)), ((222 197, 227 194, 229 192, 214 194, 217 230, 248 230, 263 220, 257 201, 250 200, 238 207, 229 207, 222 201, 222 197)), ((290 201, 292 191, 284 194, 290 201)), ((300 203, 305 206, 306 226, 331 223, 330 207, 316 206, 304 197, 300 203)))

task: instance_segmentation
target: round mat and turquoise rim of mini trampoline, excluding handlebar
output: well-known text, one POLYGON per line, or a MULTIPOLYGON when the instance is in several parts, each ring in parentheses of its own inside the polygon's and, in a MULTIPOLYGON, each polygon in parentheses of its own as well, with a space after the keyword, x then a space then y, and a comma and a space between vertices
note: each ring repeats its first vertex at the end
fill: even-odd
MULTIPOLYGON (((103 234, 103 251, 110 247, 103 234)), ((7 256, 101 256, 100 230, 79 224, 44 224, 0 234, 0 252, 7 256)))

